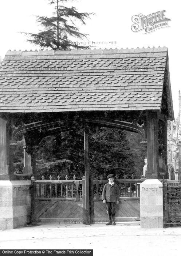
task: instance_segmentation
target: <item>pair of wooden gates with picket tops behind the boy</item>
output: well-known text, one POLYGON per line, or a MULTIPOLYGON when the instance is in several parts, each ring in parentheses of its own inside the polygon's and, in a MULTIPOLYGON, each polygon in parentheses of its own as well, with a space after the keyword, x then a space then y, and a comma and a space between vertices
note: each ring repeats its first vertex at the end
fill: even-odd
MULTIPOLYGON (((86 223, 85 178, 82 180, 32 181, 32 222, 86 223)), ((115 219, 139 221, 139 185, 142 180, 115 180, 120 198, 115 219)), ((90 223, 107 221, 102 189, 107 180, 90 180, 90 223)))

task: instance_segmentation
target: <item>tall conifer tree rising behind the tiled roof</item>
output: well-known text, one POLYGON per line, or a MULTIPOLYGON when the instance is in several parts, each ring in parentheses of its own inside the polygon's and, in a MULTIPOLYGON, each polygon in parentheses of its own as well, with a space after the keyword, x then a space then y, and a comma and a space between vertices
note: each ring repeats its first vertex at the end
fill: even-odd
POLYGON ((89 46, 77 45, 71 38, 85 39, 87 34, 79 32, 75 22, 79 21, 85 25, 85 19, 90 18, 92 13, 78 12, 75 7, 68 8, 59 3, 68 0, 49 0, 50 4, 55 4, 55 12, 52 17, 36 16, 37 22, 44 28, 38 34, 24 33, 31 39, 27 41, 39 45, 42 49, 87 49, 89 46))

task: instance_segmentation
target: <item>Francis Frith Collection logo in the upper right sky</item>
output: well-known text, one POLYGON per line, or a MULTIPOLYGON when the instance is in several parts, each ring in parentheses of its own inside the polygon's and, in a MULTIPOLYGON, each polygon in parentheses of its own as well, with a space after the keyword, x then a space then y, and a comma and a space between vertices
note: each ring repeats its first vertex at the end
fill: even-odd
POLYGON ((152 12, 148 15, 138 14, 132 16, 133 25, 131 30, 133 32, 143 31, 143 34, 151 33, 157 29, 169 27, 169 18, 165 17, 165 10, 152 12))

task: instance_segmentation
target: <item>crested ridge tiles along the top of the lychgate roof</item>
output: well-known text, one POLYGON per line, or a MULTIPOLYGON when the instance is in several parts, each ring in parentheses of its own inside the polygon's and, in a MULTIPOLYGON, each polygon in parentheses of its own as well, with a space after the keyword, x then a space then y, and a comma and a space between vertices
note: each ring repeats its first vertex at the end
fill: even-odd
POLYGON ((152 47, 150 48, 149 46, 147 48, 145 48, 144 46, 142 48, 115 48, 115 49, 83 49, 83 50, 8 50, 7 53, 5 54, 5 56, 34 56, 34 55, 38 55, 38 56, 45 56, 45 55, 87 55, 87 54, 116 54, 116 53, 146 53, 146 52, 166 52, 167 51, 167 47, 163 46, 163 47, 152 47))

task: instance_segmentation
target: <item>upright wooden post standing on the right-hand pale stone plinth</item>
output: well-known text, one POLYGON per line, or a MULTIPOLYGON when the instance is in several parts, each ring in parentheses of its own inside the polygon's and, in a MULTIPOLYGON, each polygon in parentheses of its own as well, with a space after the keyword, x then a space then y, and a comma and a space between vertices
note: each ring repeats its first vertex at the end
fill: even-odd
POLYGON ((147 113, 147 179, 158 178, 158 116, 157 112, 147 113))

